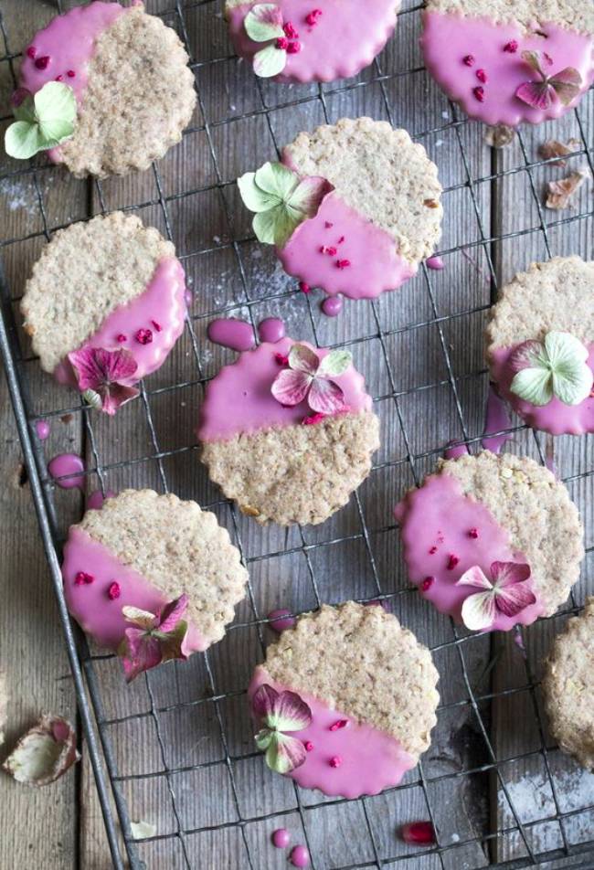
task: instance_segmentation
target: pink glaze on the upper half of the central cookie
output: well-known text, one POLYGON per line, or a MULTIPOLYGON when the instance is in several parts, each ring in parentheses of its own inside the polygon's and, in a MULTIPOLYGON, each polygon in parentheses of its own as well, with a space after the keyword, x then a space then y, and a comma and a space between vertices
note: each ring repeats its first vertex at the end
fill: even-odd
MULTIPOLYGON (((272 381, 281 371, 276 357, 286 356, 294 343, 294 339, 288 337, 273 345, 264 342, 255 350, 241 354, 235 363, 221 368, 207 385, 197 430, 199 440, 225 440, 239 432, 301 424, 311 415, 306 400, 286 408, 270 392, 272 381)), ((308 342, 301 344, 312 347, 308 342)), ((312 350, 320 359, 328 354, 325 348, 312 347, 312 350)), ((342 387, 350 411, 371 409, 365 379, 353 366, 334 380, 342 387)))

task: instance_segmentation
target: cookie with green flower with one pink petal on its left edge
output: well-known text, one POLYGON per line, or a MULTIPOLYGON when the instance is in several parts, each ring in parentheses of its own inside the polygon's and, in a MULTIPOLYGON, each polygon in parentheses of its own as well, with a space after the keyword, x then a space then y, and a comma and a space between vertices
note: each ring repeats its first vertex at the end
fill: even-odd
POLYGON ((385 121, 344 118, 300 133, 282 164, 238 184, 257 238, 276 245, 302 289, 374 298, 412 277, 440 238, 437 167, 385 121))

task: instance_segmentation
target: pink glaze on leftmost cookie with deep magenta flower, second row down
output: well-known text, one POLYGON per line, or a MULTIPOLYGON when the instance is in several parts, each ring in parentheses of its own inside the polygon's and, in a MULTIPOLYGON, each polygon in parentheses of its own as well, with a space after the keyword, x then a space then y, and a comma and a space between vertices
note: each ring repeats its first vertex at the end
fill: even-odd
MULTIPOLYGON (((82 345, 119 350, 125 347, 133 355, 137 369, 124 383, 136 384, 164 363, 166 356, 184 331, 186 314, 186 275, 175 257, 161 260, 144 292, 119 305, 109 314, 98 332, 82 345), (143 345, 136 339, 139 330, 150 330, 152 340, 143 345)), ((76 387, 76 378, 69 361, 62 360, 54 370, 60 384, 76 387)))

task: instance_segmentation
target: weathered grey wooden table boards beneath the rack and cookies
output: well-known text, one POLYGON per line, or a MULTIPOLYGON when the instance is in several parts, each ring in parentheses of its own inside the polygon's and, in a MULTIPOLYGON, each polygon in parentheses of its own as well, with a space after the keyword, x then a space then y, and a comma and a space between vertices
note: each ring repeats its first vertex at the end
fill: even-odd
MULTIPOLYGON (((64 2, 62 9, 71 5, 76 4, 64 2)), ((105 717, 118 720, 107 730, 124 776, 154 773, 165 765, 179 769, 217 762, 226 753, 233 759, 229 766, 213 763, 186 774, 126 780, 122 790, 132 816, 154 822, 160 834, 175 830, 173 790, 182 826, 199 829, 184 843, 193 866, 248 867, 251 854, 252 859, 257 856, 253 866, 274 870, 286 866, 285 854, 268 842, 279 826, 275 820, 249 822, 243 834, 233 822, 239 815, 251 819, 286 811, 277 821, 291 827, 298 838, 305 824, 318 870, 363 867, 373 866, 378 857, 416 854, 398 841, 395 831, 403 822, 428 817, 423 784, 442 845, 514 826, 504 782, 520 821, 527 824, 534 852, 556 849, 563 845, 559 823, 538 820, 554 816, 557 808, 578 811, 594 803, 594 778, 553 747, 539 714, 539 691, 528 688, 537 683, 539 662, 566 617, 540 621, 525 631, 526 660, 509 636, 457 644, 450 622, 406 591, 391 508, 405 487, 430 470, 448 441, 467 440, 472 451, 480 446, 488 387, 482 332, 496 284, 531 260, 569 253, 592 257, 591 182, 567 212, 546 211, 544 183, 564 170, 532 164, 538 162, 537 148, 546 138, 575 137, 582 149, 584 141, 591 147, 594 92, 563 121, 525 129, 514 143, 495 151, 484 143, 481 126, 457 115, 422 69, 419 11, 410 2, 404 3, 397 36, 379 64, 355 80, 360 86, 349 81, 321 90, 254 80, 245 63, 230 57, 216 3, 149 0, 147 6, 164 14, 186 39, 200 92, 191 130, 160 161, 158 172, 111 179, 97 187, 57 167, 48 168, 43 158, 37 158, 36 172, 5 157, 0 165, 0 239, 7 242, 5 271, 16 299, 46 243, 46 231, 102 208, 124 206, 138 207, 145 222, 171 232, 194 292, 193 332, 186 330, 163 369, 147 381, 143 399, 123 408, 116 419, 92 416, 92 430, 80 410, 69 412, 74 400, 39 372, 35 360, 25 364, 31 406, 35 414, 51 420, 47 458, 62 451, 85 455, 89 490, 98 488, 98 462, 103 483, 113 490, 142 485, 162 490, 166 481, 175 493, 211 505, 249 560, 250 597, 238 608, 238 627, 211 651, 207 663, 195 656, 186 665, 161 669, 148 683, 141 679, 130 688, 122 684, 117 663, 97 664, 105 717), (275 267, 270 252, 250 238, 249 216, 239 207, 232 182, 272 158, 275 145, 300 130, 358 114, 406 127, 439 165, 446 191, 439 247, 446 268, 421 270, 400 291, 374 304, 346 302, 342 315, 330 320, 319 312, 319 298, 295 293, 294 283, 275 267), (571 222, 562 224, 566 217, 571 222), (193 425, 201 384, 232 358, 206 339, 208 320, 222 310, 248 314, 255 323, 277 314, 295 337, 317 339, 323 345, 346 343, 366 374, 382 419, 377 467, 357 498, 322 527, 286 533, 276 527, 260 529, 221 501, 197 462, 193 425), (170 389, 179 384, 185 386, 170 389), (122 460, 133 464, 122 468, 117 464, 122 460), (255 619, 278 607, 307 610, 319 599, 334 603, 373 599, 382 593, 392 596, 392 610, 421 641, 437 647, 443 707, 423 759, 423 780, 415 771, 406 780, 414 783, 409 788, 364 803, 335 803, 303 793, 298 808, 292 787, 270 776, 261 759, 250 756, 253 747, 241 692, 260 660, 260 639, 270 640, 270 631, 255 619), (493 697, 501 692, 505 694, 493 697), (227 699, 210 700, 210 695, 227 693, 227 699), (153 716, 154 709, 164 712, 153 716), (126 718, 134 713, 141 717, 126 718), (501 761, 499 776, 491 750, 501 761), (514 760, 525 753, 525 758, 514 760), (461 770, 467 773, 454 776, 461 770), (311 804, 316 808, 308 809, 311 804), (205 830, 221 823, 221 831, 205 830)), ((56 12, 55 3, 41 0, 2 0, 0 8, 7 40, 2 53, 9 58, 56 12)), ((2 61, 3 105, 13 87, 10 68, 10 62, 2 61)), ((587 157, 582 153, 572 159, 570 168, 584 164, 587 157)), ((0 699, 7 698, 5 715, 1 701, 0 713, 9 747, 40 711, 61 713, 72 721, 77 713, 4 381, 0 398, 0 699)), ((589 552, 568 604, 574 608, 593 590, 588 570, 593 478, 580 476, 594 471, 593 442, 553 441, 523 429, 517 419, 511 429, 506 449, 555 462, 583 515, 589 552)), ((58 533, 63 535, 80 516, 83 497, 76 490, 57 490, 56 505, 58 533)), ((48 789, 29 790, 0 777, 0 866, 98 870, 111 865, 84 743, 82 753, 80 766, 48 789)), ((576 812, 564 822, 564 830, 569 840, 589 839, 594 812, 576 812)), ((517 831, 489 842, 493 859, 525 854, 517 831)), ((170 840, 145 843, 140 854, 149 867, 182 867, 181 844, 174 845, 170 840)), ((390 866, 457 870, 487 864, 484 849, 471 842, 446 851, 443 864, 432 854, 390 866)), ((558 864, 576 865, 576 859, 558 864)))

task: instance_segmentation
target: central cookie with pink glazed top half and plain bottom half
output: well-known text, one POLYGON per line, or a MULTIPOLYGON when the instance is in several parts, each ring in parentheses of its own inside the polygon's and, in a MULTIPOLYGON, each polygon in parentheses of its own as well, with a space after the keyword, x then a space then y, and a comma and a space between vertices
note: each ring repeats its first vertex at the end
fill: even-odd
POLYGON ((371 470, 379 423, 345 351, 264 342, 207 386, 202 462, 259 523, 324 522, 371 470))

